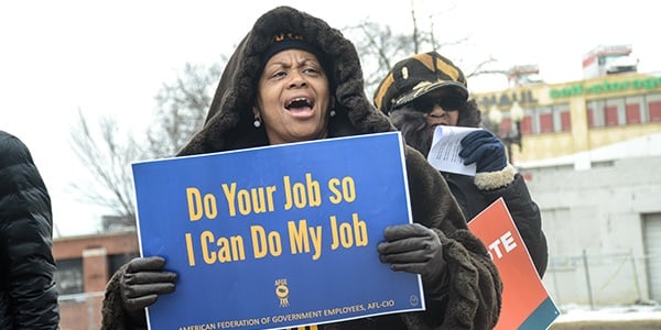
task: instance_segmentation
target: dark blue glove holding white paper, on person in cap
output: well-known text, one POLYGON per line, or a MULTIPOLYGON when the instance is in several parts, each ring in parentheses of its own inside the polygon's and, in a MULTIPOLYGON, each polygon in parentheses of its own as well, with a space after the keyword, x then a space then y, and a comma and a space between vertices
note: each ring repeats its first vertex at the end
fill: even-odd
POLYGON ((464 165, 476 163, 477 172, 497 172, 507 166, 505 145, 491 132, 479 130, 462 139, 464 165))

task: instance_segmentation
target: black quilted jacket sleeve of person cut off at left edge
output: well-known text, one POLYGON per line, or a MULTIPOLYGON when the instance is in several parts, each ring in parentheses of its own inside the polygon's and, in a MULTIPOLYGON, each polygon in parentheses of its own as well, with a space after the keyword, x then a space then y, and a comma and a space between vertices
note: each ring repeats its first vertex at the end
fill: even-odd
POLYGON ((0 131, 0 329, 58 329, 51 215, 28 147, 0 131))

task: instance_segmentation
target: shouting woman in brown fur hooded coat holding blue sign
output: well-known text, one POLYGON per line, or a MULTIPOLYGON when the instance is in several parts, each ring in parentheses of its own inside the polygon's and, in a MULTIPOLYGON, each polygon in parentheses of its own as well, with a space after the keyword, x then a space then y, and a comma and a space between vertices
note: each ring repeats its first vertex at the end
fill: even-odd
MULTIPOLYGON (((364 90, 350 41, 321 19, 278 7, 240 42, 204 128, 177 156, 395 131, 364 90)), ((498 321, 502 283, 486 246, 468 230, 443 176, 413 148, 407 146, 404 156, 414 223, 387 228, 375 257, 394 272, 420 274, 426 309, 313 328, 490 329, 498 321)), ((115 273, 101 329, 145 327, 144 308, 172 294, 184 276, 169 271, 166 262, 139 257, 115 273)))

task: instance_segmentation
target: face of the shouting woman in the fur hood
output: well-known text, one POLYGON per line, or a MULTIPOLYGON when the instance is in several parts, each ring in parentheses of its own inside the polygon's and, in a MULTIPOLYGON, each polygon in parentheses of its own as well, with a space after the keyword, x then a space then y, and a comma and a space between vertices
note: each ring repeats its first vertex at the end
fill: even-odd
POLYGON ((269 143, 281 144, 326 138, 329 105, 328 78, 316 56, 286 50, 264 65, 253 112, 269 143))

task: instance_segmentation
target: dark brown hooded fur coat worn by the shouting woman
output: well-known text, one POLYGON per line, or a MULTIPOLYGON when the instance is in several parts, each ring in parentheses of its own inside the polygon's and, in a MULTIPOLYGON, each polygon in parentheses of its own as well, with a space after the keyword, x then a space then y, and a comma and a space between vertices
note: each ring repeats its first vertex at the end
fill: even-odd
MULTIPOLYGON (((262 54, 275 32, 302 34, 327 55, 336 116, 330 136, 393 131, 387 117, 365 96, 356 50, 342 33, 321 19, 289 7, 263 14, 229 59, 218 84, 205 127, 178 153, 203 154, 268 145, 263 129, 252 125, 256 81, 262 54)), ((424 312, 407 312, 319 326, 319 329, 490 329, 500 311, 501 283, 481 242, 464 216, 443 177, 413 148, 407 148, 407 169, 413 219, 432 228, 441 239, 449 284, 444 294, 425 290, 424 312)), ((110 279, 104 301, 104 329, 126 327, 118 282, 110 279)), ((156 302, 158 304, 158 302, 156 302)))

